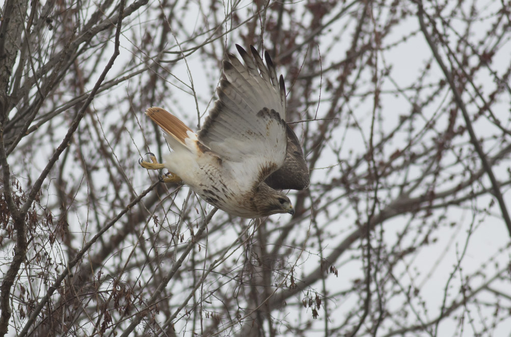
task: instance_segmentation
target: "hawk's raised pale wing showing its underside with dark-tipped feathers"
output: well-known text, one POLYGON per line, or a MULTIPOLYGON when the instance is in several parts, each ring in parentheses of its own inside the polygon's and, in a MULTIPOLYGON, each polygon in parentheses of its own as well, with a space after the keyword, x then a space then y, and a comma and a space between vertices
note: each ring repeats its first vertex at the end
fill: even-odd
POLYGON ((239 178, 258 186, 286 159, 286 89, 268 53, 266 67, 254 47, 252 56, 236 47, 245 65, 230 54, 223 61, 218 100, 197 138, 227 159, 225 165, 239 178))

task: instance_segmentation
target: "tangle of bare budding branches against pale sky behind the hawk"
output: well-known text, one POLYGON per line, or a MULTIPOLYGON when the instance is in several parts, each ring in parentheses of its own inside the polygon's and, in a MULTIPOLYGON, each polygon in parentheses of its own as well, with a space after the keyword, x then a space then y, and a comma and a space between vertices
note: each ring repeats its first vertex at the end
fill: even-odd
POLYGON ((0 331, 502 333, 511 9, 455 4, 424 2, 428 44, 414 1, 7 1, 0 331), (234 43, 286 80, 312 168, 292 219, 211 217, 137 167, 168 151, 143 111, 197 125, 234 43))

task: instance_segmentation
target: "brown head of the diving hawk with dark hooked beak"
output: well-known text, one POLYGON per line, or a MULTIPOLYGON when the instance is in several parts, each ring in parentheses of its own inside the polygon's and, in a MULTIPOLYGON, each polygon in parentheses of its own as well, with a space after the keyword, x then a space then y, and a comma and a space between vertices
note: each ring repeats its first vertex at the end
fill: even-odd
POLYGON ((268 216, 276 213, 294 214, 294 208, 289 198, 261 183, 254 196, 254 204, 261 216, 268 216))

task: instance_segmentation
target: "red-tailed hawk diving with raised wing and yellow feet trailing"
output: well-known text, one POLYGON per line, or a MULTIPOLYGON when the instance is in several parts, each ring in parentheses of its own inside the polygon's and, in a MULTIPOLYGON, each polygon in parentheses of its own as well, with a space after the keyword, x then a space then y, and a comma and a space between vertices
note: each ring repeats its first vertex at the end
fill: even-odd
POLYGON ((161 108, 146 114, 165 131, 173 150, 164 163, 151 156, 151 170, 167 168, 167 182, 183 182, 206 202, 242 218, 294 214, 278 189, 309 186, 309 168, 293 130, 286 124, 284 78, 265 53, 266 65, 253 46, 252 56, 236 45, 223 61, 218 100, 202 129, 194 133, 161 108))

